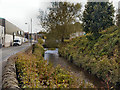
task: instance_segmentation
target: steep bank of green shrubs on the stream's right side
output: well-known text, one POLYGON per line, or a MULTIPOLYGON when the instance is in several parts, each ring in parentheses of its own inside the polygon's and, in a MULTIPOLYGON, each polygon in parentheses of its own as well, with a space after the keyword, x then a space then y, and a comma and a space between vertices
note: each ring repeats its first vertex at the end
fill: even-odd
POLYGON ((62 44, 59 54, 110 86, 120 85, 120 29, 112 26, 101 32, 98 39, 92 34, 62 44))

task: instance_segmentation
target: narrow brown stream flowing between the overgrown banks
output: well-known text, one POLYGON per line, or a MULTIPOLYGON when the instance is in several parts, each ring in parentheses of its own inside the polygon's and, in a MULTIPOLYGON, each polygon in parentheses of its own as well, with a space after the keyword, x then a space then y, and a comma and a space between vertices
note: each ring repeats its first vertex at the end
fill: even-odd
POLYGON ((44 59, 53 64, 53 67, 61 65, 64 69, 70 71, 75 77, 78 78, 78 81, 84 80, 86 83, 92 83, 95 87, 100 88, 105 85, 102 83, 102 80, 98 79, 96 76, 89 74, 84 71, 84 69, 75 66, 73 63, 68 62, 63 57, 59 57, 58 49, 56 50, 47 50, 45 51, 44 59))

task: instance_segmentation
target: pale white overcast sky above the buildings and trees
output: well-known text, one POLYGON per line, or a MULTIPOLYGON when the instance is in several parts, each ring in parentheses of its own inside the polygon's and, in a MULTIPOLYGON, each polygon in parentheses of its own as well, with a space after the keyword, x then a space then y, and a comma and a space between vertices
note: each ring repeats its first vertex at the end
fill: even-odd
MULTIPOLYGON (((55 0, 0 0, 0 17, 15 24, 24 31, 30 31, 30 19, 33 19, 33 32, 40 31, 41 27, 37 20, 39 8, 45 10, 50 1, 55 0), (28 23, 28 24, 25 24, 28 23)), ((63 0, 56 0, 63 1, 63 0)), ((70 2, 82 2, 84 5, 87 0, 64 0, 70 2)), ((115 9, 118 7, 119 0, 113 1, 115 9)))

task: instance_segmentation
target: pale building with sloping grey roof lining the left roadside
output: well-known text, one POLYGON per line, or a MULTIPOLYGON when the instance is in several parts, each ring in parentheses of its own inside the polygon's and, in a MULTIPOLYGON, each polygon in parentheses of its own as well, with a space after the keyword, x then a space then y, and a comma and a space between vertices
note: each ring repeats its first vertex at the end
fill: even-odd
POLYGON ((24 41, 24 31, 6 19, 0 18, 0 47, 12 46, 15 38, 24 41))

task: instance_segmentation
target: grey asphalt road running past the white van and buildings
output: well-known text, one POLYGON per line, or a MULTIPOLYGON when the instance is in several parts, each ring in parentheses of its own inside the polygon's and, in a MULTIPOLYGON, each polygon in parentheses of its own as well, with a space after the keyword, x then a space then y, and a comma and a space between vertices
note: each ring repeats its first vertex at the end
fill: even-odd
POLYGON ((6 65, 7 59, 30 46, 29 43, 22 44, 21 46, 11 46, 8 48, 2 48, 0 49, 0 89, 2 87, 2 71, 4 69, 4 66, 6 65))

